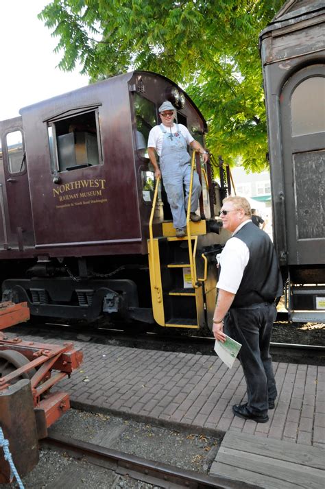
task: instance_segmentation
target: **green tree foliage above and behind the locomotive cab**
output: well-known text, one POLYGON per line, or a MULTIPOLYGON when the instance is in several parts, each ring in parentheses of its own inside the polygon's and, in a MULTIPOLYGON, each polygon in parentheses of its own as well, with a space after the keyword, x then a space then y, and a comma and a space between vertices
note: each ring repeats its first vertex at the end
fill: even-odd
POLYGON ((189 93, 207 145, 228 163, 265 168, 267 136, 258 34, 284 0, 53 0, 39 14, 58 36, 60 69, 91 80, 155 71, 189 93))

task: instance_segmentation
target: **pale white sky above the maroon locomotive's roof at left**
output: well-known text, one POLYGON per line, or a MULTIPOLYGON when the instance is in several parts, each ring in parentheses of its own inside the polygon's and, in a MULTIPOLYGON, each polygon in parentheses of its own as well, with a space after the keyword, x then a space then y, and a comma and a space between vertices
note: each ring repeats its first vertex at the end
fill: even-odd
POLYGON ((58 38, 37 14, 50 0, 0 0, 0 121, 19 109, 88 84, 80 69, 65 73, 53 53, 58 38))

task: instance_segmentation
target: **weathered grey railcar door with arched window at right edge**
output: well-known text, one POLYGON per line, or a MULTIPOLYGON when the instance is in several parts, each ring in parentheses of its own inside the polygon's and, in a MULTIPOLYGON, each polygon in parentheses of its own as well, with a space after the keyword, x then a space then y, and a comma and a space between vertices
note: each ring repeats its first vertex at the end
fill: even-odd
POLYGON ((325 65, 295 73, 280 97, 289 265, 325 261, 325 65))

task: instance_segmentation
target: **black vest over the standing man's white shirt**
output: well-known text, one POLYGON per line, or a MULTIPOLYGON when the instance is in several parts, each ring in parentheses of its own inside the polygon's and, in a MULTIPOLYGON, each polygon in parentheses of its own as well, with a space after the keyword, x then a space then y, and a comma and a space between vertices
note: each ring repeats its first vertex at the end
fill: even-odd
POLYGON ((271 239, 252 222, 245 224, 234 237, 248 246, 250 259, 231 307, 274 302, 283 294, 283 283, 271 239))

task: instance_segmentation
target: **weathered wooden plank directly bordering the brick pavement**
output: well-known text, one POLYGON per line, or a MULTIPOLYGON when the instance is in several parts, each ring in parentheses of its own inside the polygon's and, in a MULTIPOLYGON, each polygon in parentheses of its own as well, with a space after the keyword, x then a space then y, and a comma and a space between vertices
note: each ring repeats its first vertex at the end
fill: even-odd
POLYGON ((325 450, 316 446, 298 445, 273 438, 261 438, 246 433, 228 431, 221 446, 256 455, 265 455, 304 466, 324 469, 325 450))

